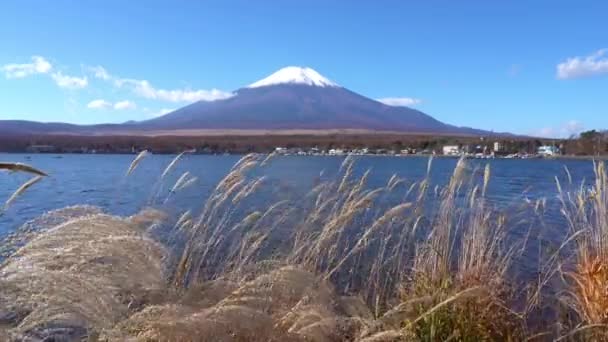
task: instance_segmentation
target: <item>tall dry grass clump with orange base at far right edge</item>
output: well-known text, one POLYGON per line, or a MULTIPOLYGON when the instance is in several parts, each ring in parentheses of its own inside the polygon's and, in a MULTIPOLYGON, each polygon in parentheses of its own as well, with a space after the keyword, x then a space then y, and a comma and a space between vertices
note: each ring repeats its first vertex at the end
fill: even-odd
POLYGON ((608 174, 604 162, 594 163, 595 181, 568 192, 557 182, 562 214, 575 242, 572 269, 562 272, 567 289, 563 302, 570 309, 571 332, 565 337, 608 340, 608 174))

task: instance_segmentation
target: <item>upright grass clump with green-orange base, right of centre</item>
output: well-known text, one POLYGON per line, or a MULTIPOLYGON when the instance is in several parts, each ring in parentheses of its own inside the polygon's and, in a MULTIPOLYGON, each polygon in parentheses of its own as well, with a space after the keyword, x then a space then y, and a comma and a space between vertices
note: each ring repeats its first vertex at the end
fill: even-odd
POLYGON ((468 186, 466 167, 463 159, 456 165, 430 233, 416 246, 401 295, 406 303, 426 300, 405 330, 423 341, 523 340, 528 332, 523 313, 514 309, 515 283, 508 275, 517 246, 506 245, 506 217, 486 203, 490 166, 481 184, 468 186))

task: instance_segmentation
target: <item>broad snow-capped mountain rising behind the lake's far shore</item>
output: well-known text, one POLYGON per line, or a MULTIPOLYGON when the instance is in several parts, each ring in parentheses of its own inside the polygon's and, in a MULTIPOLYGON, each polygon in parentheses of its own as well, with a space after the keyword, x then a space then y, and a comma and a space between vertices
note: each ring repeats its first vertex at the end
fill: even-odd
POLYGON ((117 125, 0 121, 0 133, 154 134, 196 130, 363 130, 485 135, 457 127, 408 107, 389 106, 350 91, 315 70, 286 67, 232 96, 198 101, 161 117, 117 125))

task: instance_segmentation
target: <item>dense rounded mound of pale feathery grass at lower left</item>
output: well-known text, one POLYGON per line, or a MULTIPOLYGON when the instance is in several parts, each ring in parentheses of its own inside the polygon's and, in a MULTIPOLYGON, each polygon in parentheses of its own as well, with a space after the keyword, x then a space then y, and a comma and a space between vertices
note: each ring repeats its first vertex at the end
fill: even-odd
POLYGON ((9 334, 91 337, 153 301, 164 288, 165 250, 142 228, 108 215, 84 216, 18 249, 0 266, 0 312, 18 318, 9 334))

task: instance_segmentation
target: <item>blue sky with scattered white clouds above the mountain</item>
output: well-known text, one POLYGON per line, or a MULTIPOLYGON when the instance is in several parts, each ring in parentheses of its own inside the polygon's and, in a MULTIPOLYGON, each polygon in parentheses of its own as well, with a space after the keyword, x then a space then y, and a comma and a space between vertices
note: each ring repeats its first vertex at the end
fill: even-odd
POLYGON ((607 1, 0 3, 0 119, 143 120, 288 65, 439 120, 608 128, 607 1))

